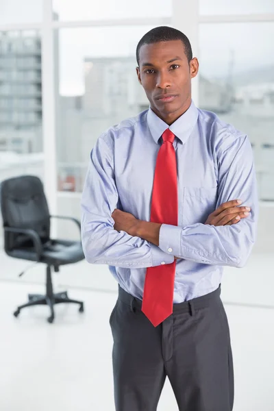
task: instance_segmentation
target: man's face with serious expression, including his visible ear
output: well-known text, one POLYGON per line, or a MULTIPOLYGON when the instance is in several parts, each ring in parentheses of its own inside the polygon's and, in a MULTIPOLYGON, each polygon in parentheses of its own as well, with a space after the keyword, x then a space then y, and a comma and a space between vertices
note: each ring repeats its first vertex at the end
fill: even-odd
POLYGON ((191 79, 199 70, 197 58, 188 63, 181 40, 142 45, 138 80, 145 89, 152 110, 171 125, 189 107, 191 79))

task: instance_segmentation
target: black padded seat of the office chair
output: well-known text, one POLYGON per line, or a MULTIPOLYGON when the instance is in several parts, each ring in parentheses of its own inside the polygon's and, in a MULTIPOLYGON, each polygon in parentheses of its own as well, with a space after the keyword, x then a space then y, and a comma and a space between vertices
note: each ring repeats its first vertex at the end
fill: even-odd
MULTIPOLYGON (((36 261, 34 247, 20 247, 12 249, 9 256, 23 260, 36 261)), ((43 245, 40 262, 59 266, 84 260, 84 252, 80 241, 49 240, 43 245)))

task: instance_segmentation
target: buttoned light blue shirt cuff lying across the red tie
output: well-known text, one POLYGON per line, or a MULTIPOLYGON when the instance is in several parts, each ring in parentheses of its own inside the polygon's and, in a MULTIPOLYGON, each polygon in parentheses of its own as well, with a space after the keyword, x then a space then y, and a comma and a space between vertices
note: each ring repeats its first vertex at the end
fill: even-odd
POLYGON ((181 255, 181 232, 176 225, 162 224, 159 234, 159 248, 175 257, 181 255))

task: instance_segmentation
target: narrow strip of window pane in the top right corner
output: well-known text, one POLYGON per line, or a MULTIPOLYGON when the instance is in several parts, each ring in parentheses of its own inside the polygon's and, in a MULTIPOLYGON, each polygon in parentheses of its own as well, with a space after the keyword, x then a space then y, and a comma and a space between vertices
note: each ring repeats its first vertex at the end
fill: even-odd
POLYGON ((199 0, 200 14, 274 13, 273 0, 199 0))

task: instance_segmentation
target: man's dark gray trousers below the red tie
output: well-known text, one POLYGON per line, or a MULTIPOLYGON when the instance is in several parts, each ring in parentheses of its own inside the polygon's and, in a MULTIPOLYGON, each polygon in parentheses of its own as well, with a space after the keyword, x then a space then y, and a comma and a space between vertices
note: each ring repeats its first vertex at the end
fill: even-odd
POLYGON ((180 411, 232 411, 232 350, 220 294, 221 286, 174 304, 153 327, 141 301, 119 287, 110 316, 116 411, 155 411, 166 375, 180 411))

